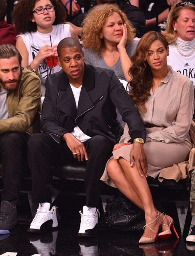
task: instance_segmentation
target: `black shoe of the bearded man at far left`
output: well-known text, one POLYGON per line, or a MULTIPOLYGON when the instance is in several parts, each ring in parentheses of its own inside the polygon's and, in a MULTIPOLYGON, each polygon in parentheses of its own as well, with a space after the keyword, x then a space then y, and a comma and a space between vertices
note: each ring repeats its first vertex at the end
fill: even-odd
POLYGON ((8 201, 2 201, 0 207, 0 235, 10 233, 18 225, 16 208, 8 201))

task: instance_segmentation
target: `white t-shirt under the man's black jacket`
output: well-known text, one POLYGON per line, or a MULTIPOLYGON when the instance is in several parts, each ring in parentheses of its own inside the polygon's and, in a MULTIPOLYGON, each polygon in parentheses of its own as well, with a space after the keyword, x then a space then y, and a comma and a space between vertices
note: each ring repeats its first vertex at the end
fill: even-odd
MULTIPOLYGON (((73 86, 71 84, 70 84, 70 86, 72 89, 72 93, 75 97, 76 108, 78 108, 78 102, 79 102, 80 91, 81 91, 82 85, 79 88, 76 88, 75 86, 73 86)), ((81 142, 85 142, 89 138, 92 138, 92 137, 89 137, 88 135, 84 134, 84 132, 82 130, 80 130, 79 126, 76 126, 74 128, 74 130, 72 131, 72 135, 74 135, 81 142)))

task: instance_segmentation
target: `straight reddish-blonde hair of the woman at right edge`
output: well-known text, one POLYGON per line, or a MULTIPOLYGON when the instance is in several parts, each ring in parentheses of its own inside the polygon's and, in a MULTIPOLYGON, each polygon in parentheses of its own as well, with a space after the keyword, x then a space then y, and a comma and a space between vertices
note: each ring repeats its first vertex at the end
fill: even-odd
POLYGON ((165 31, 162 32, 162 34, 167 38, 169 44, 177 40, 177 32, 173 29, 173 21, 176 22, 177 19, 179 18, 180 11, 185 9, 195 12, 195 5, 186 4, 185 6, 177 6, 177 4, 175 4, 168 14, 167 28, 165 31))

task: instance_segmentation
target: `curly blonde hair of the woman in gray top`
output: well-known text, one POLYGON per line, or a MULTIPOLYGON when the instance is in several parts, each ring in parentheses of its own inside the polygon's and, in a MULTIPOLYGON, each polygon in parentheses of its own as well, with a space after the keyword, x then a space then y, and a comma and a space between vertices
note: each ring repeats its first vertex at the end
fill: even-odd
POLYGON ((99 4, 88 12, 83 21, 82 42, 84 48, 93 49, 97 54, 105 48, 104 41, 100 39, 100 33, 107 17, 113 12, 117 12, 121 16, 123 24, 127 24, 127 44, 133 40, 135 29, 127 20, 126 14, 116 4, 99 4))

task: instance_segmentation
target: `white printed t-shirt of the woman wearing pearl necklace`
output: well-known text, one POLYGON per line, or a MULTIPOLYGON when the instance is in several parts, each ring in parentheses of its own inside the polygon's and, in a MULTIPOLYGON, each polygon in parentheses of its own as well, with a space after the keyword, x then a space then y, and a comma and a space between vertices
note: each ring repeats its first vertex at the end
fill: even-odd
POLYGON ((170 65, 173 70, 188 77, 195 87, 195 52, 189 57, 184 57, 178 53, 175 45, 171 44, 169 45, 167 64, 170 65))

